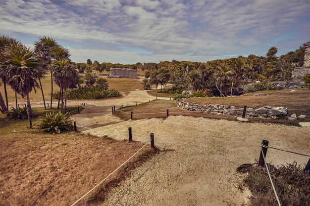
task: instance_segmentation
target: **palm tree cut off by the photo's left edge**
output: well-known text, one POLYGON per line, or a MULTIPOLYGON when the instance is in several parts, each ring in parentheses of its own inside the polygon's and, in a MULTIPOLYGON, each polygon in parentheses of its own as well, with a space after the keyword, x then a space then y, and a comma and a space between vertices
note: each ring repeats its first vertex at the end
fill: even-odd
MULTIPOLYGON (((4 35, 0 36, 0 64, 2 64, 5 61, 5 59, 3 58, 3 55, 14 42, 17 42, 17 41, 11 37, 4 36, 4 35)), ((3 86, 4 86, 5 103, 6 103, 5 111, 7 111, 8 110, 8 99, 7 99, 7 91, 6 91, 7 75, 2 73, 2 75, 0 76, 0 79, 2 80, 3 86)))

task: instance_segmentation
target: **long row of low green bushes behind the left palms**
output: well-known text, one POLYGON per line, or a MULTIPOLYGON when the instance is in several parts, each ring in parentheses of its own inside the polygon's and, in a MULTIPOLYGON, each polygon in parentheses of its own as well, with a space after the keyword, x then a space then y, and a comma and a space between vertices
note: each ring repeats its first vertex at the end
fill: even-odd
MULTIPOLYGON (((58 95, 59 91, 54 91, 53 98, 58 99, 58 95)), ((105 89, 100 85, 77 85, 77 88, 68 89, 67 91, 67 99, 103 99, 117 96, 120 96, 120 93, 116 89, 105 89)))

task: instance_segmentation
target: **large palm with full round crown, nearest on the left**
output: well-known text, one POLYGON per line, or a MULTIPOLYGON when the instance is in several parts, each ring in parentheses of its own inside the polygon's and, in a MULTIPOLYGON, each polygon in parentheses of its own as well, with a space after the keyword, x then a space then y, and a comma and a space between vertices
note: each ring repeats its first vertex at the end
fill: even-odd
POLYGON ((32 127, 32 111, 29 93, 38 87, 46 71, 41 66, 40 58, 30 48, 23 44, 14 43, 10 50, 3 55, 5 62, 1 65, 0 73, 7 74, 8 84, 14 91, 27 99, 27 115, 29 127, 32 127))

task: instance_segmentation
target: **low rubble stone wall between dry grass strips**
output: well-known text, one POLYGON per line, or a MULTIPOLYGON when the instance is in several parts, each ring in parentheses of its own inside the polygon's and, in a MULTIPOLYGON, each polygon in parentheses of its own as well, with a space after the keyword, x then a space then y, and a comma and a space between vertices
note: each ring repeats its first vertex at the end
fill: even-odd
MULTIPOLYGON (((242 116, 243 113, 243 108, 221 104, 200 105, 194 102, 187 102, 183 99, 177 99, 176 105, 184 110, 199 111, 207 114, 242 116)), ((246 117, 281 119, 287 113, 288 109, 285 107, 265 106, 258 109, 247 108, 246 117)))

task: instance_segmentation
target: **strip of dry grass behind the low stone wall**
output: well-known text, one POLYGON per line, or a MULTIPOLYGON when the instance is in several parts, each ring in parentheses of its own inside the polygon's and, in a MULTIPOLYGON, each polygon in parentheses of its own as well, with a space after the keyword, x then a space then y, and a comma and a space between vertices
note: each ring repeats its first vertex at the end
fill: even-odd
POLYGON ((259 91, 243 96, 235 97, 202 97, 189 98, 187 101, 199 104, 226 104, 242 108, 244 105, 252 108, 262 106, 287 107, 287 108, 310 108, 310 90, 259 91), (253 96, 255 93, 269 94, 268 96, 253 96))

